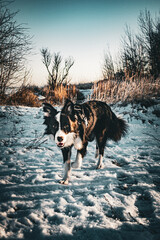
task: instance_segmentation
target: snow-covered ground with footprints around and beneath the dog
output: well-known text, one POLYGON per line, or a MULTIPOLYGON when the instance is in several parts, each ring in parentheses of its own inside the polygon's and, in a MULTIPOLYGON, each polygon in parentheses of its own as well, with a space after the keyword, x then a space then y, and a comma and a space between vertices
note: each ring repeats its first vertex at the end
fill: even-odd
POLYGON ((160 105, 112 109, 128 135, 108 143, 100 170, 90 143, 65 186, 42 108, 0 107, 0 239, 160 239, 160 105))

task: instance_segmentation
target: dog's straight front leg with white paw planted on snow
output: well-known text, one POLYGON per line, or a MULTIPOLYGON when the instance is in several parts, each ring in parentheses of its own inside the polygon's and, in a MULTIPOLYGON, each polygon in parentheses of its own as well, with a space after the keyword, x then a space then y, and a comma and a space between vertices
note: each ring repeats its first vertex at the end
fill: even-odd
POLYGON ((63 154, 63 162, 64 162, 64 177, 60 181, 60 183, 67 185, 69 182, 70 173, 71 173, 71 147, 63 148, 62 154, 63 154))

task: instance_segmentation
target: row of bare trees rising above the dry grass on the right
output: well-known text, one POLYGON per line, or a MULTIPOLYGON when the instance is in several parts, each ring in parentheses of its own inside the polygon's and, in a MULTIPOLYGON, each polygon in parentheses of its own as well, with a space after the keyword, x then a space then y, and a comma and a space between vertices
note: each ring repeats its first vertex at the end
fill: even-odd
POLYGON ((104 79, 141 78, 160 75, 160 17, 153 19, 147 9, 138 16, 139 32, 134 34, 126 25, 121 41, 118 66, 109 49, 104 56, 104 79))

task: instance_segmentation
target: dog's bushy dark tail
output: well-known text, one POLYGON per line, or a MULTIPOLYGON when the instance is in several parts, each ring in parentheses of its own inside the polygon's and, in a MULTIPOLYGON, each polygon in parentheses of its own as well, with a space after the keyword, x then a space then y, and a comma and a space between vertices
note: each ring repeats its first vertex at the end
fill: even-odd
POLYGON ((109 138, 115 142, 118 142, 121 137, 125 136, 128 132, 128 124, 127 122, 117 117, 112 112, 112 120, 110 122, 110 129, 109 129, 109 138))

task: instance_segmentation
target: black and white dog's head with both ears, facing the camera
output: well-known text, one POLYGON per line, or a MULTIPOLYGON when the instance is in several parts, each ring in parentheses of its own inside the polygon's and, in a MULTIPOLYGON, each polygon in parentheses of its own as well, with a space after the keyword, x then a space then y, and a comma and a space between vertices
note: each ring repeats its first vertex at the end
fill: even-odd
POLYGON ((47 125, 46 134, 52 134, 58 147, 64 148, 74 144, 77 120, 74 104, 70 100, 61 111, 57 111, 50 104, 44 103, 44 124, 47 125))

